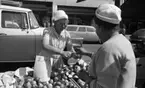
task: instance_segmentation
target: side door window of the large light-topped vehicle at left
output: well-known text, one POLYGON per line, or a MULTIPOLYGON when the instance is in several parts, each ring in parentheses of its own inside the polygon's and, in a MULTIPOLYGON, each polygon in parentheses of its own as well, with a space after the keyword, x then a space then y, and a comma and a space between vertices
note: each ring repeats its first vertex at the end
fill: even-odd
POLYGON ((23 27, 26 24, 27 24, 26 13, 2 11, 3 28, 23 29, 23 27))

